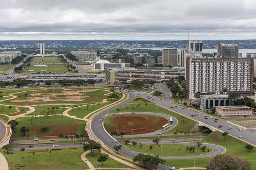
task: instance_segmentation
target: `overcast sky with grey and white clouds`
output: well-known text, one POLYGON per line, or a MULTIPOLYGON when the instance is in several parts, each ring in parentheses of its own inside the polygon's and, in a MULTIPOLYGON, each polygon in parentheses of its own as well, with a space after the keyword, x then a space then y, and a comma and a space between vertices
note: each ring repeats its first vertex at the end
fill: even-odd
POLYGON ((0 40, 256 39, 256 0, 0 0, 0 40))

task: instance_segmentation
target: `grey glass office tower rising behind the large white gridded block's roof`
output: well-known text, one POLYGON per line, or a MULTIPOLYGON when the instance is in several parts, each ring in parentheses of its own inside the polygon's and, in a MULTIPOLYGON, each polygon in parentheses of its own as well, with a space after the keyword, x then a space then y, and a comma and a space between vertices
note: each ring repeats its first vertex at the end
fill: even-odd
POLYGON ((239 43, 235 44, 217 44, 217 55, 229 58, 239 57, 239 43))

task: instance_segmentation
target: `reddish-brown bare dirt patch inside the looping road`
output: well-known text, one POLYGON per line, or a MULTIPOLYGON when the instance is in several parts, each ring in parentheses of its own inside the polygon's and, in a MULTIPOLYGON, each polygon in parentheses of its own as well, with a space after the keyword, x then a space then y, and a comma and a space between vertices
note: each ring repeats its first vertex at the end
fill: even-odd
MULTIPOLYGON (((151 133, 161 129, 166 122, 167 120, 163 117, 156 118, 151 115, 118 115, 111 119, 111 123, 118 125, 121 131, 124 126, 125 135, 151 133), (157 123, 152 123, 156 120, 157 123), (128 125, 128 122, 131 122, 133 126, 131 123, 128 125)), ((112 127, 110 131, 116 131, 116 127, 112 127)))

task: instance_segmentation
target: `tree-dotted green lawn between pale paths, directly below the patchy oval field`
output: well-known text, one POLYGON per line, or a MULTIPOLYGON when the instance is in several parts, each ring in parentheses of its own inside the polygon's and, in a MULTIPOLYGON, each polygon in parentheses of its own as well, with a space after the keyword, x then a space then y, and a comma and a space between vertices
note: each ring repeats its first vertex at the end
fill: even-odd
MULTIPOLYGON (((73 105, 65 105, 68 108, 72 108, 74 107, 73 105)), ((61 108, 61 105, 37 105, 37 106, 33 106, 35 108, 35 111, 33 113, 29 113, 26 115, 46 115, 46 113, 49 111, 49 114, 53 114, 52 111, 54 111, 54 113, 56 114, 62 114, 63 111, 67 110, 68 108, 61 108), (54 107, 54 109, 52 109, 52 107, 54 107), (56 110, 56 107, 58 107, 58 112, 56 110), (48 109, 49 108, 49 109, 48 109)))

